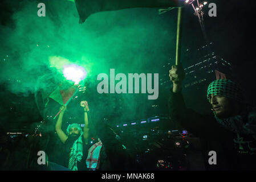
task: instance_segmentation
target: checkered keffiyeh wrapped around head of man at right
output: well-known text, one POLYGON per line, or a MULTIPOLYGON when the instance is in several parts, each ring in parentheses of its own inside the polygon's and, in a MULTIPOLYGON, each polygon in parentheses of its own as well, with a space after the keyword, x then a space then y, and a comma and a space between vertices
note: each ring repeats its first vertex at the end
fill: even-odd
POLYGON ((239 86, 237 83, 228 79, 218 79, 214 80, 208 86, 207 98, 210 102, 210 94, 213 94, 213 96, 225 96, 227 98, 231 98, 232 100, 242 102, 242 93, 241 86, 239 86))

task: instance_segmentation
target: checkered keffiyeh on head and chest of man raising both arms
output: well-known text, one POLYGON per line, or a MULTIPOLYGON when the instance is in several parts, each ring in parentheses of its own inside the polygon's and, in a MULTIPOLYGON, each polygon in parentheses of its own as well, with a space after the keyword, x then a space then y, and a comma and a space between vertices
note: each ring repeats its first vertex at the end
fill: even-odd
POLYGON ((80 136, 77 140, 75 140, 72 146, 72 150, 70 153, 70 160, 68 162, 68 168, 71 169, 72 171, 78 171, 78 167, 76 166, 76 163, 80 162, 83 157, 83 141, 82 141, 83 131, 79 124, 73 123, 67 127, 67 135, 69 134, 69 129, 71 129, 72 127, 77 128, 79 130, 80 136))

